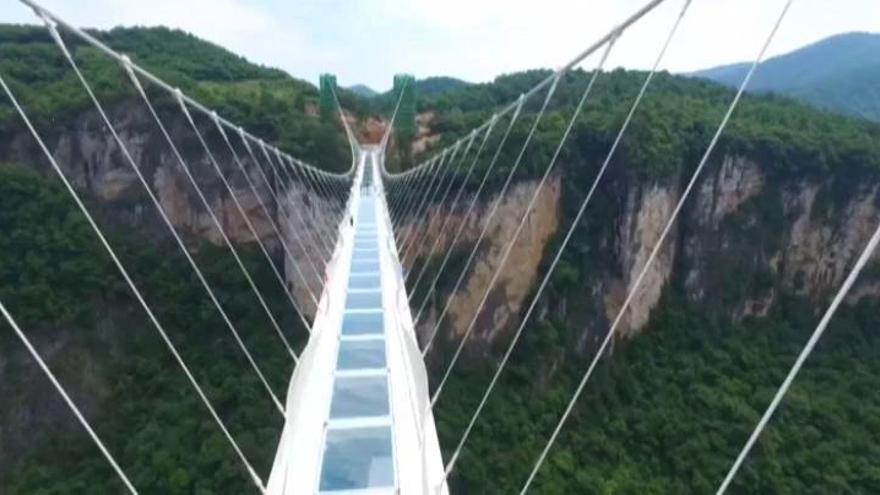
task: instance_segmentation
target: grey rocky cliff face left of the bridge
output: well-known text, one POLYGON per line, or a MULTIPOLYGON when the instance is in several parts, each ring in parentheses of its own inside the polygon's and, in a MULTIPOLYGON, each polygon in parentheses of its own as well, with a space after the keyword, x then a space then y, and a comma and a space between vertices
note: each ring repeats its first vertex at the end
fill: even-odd
MULTIPOLYGON (((319 241, 331 235, 333 226, 328 212, 334 199, 325 194, 310 194, 309 184, 304 183, 297 172, 282 167, 274 155, 267 158, 258 148, 253 149, 260 163, 256 165, 241 140, 230 134, 233 149, 242 165, 239 167, 236 156, 214 125, 196 116, 211 150, 209 156, 179 111, 170 107, 160 113, 229 239, 243 245, 256 244, 259 238, 283 268, 300 306, 312 314, 314 305, 306 287, 314 292, 320 286, 323 260, 327 254, 314 246, 326 248, 326 244, 319 241), (212 159, 223 172, 222 178, 212 159), (271 166, 268 165, 270 159, 273 160, 271 166), (283 192, 279 187, 281 183, 289 186, 283 192), (279 231, 281 239, 277 235, 279 231), (300 267, 299 271, 293 260, 300 267)), ((200 240, 225 245, 220 231, 147 109, 142 104, 126 102, 112 107, 109 115, 162 209, 190 248, 195 249, 200 240)), ((167 249, 177 249, 170 244, 173 241, 167 227, 96 112, 59 122, 51 131, 47 130, 44 137, 67 178, 107 210, 107 218, 135 229, 147 229, 157 242, 167 243, 167 249)), ((54 174, 30 134, 21 132, 3 142, 7 145, 0 148, 0 161, 32 165, 47 175, 54 174)))

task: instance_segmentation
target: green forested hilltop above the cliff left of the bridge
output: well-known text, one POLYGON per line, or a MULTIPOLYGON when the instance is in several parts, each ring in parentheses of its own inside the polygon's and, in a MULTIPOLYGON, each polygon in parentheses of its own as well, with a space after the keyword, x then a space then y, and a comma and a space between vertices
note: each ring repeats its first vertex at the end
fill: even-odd
MULTIPOLYGON (((215 109, 265 141, 329 170, 351 165, 338 119, 315 115, 318 91, 278 70, 254 65, 223 48, 167 28, 117 28, 92 34, 172 86, 215 109), (310 110, 314 109, 314 110, 310 110)), ((105 104, 138 101, 120 65, 62 29, 83 73, 105 104)), ((92 108, 69 64, 45 28, 0 26, 0 73, 38 127, 65 123, 92 108)), ((145 86, 159 105, 174 105, 166 92, 145 86)), ((346 96, 347 98, 347 96, 346 96)), ((0 101, 0 137, 21 124, 0 101)))

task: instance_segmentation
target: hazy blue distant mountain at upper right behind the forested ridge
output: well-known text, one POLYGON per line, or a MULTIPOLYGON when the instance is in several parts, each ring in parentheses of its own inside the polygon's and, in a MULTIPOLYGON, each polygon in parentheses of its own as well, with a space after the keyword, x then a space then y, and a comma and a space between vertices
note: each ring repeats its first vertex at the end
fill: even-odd
MULTIPOLYGON (((736 86, 748 69, 739 63, 691 75, 736 86)), ((768 59, 749 89, 880 121, 880 34, 840 34, 768 59)))

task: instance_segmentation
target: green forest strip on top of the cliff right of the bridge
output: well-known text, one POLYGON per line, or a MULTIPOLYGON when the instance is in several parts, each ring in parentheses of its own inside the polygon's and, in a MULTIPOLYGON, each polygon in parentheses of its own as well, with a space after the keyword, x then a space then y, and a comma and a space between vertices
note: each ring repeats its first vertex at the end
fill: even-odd
MULTIPOLYGON (((423 157, 465 136, 549 74, 547 70, 527 71, 439 96, 418 95, 420 111, 436 114, 431 130, 441 135, 423 157)), ((577 148, 608 148, 646 75, 615 70, 597 78, 592 96, 575 124, 571 139, 574 144, 565 148, 563 160, 581 161, 583 153, 577 148)), ((546 158, 543 163, 549 161, 552 147, 557 144, 553 138, 561 135, 590 76, 589 72, 576 70, 560 81, 538 127, 539 138, 533 145, 538 151, 530 151, 533 155, 528 162, 542 163, 539 155, 546 158)), ((512 141, 527 133, 532 123, 528 116, 537 110, 544 96, 545 92, 539 92, 528 100, 526 118, 514 129, 512 141)), ((681 157, 702 151, 706 136, 714 132, 732 98, 732 90, 711 82, 658 74, 623 142, 621 160, 648 175, 675 172, 681 157)), ((774 166, 796 173, 827 172, 841 166, 880 170, 878 135, 878 124, 821 111, 789 98, 746 96, 723 134, 717 154, 769 158, 767 161, 774 166)), ((506 158, 502 157, 500 163, 512 163, 515 156, 506 158)), ((536 171, 526 173, 534 175, 536 171)))

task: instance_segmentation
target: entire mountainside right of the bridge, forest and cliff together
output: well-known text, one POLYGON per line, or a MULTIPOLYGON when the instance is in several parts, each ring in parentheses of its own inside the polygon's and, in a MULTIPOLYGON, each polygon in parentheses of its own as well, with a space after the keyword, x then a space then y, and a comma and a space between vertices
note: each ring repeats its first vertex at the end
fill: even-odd
MULTIPOLYGON (((513 74, 421 102, 417 139, 432 143, 429 149, 451 143, 546 74, 513 74)), ((444 345, 429 355, 434 384, 588 76, 572 74, 560 84, 488 242, 453 295, 441 330, 444 345)), ((615 71, 598 78, 477 320, 466 359, 440 398, 438 427, 447 453, 644 76, 615 71)), ((459 493, 510 493, 524 482, 732 97, 721 86, 668 74, 653 83, 457 465, 459 493)), ((542 99, 539 94, 530 108, 542 99)), ((503 172, 492 174, 492 191, 515 161, 532 118, 526 114, 503 148, 497 165, 503 172)), ((506 120, 498 125, 503 129, 506 120)), ((477 162, 470 191, 500 134, 477 162)), ((880 222, 877 137, 880 126, 792 100, 742 101, 624 318, 613 355, 602 361, 539 475, 536 493, 714 491, 880 222)), ((423 339, 490 205, 489 198, 479 202, 454 248, 456 268, 441 278, 441 295, 419 329, 423 339)), ((462 210, 441 209, 438 218, 451 215, 457 225, 462 210)), ((431 262, 436 268, 439 260, 431 262)), ((866 393, 880 385, 878 276, 875 256, 737 478, 736 493, 880 490, 880 464, 873 460, 880 453, 880 400, 866 393)))

